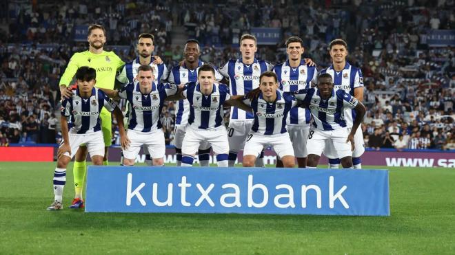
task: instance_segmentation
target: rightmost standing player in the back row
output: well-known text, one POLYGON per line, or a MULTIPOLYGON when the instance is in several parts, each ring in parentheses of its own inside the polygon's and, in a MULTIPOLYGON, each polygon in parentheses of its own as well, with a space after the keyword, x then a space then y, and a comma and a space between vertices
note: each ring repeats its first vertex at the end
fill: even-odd
MULTIPOLYGON (((358 67, 354 67, 347 63, 347 43, 342 39, 335 39, 329 45, 330 57, 332 57, 332 65, 327 69, 321 70, 321 74, 330 74, 334 79, 335 89, 343 89, 345 92, 354 96, 358 101, 363 102, 363 76, 362 71, 358 67)), ((352 129, 353 120, 356 112, 352 109, 345 109, 345 120, 348 129, 352 129)), ((352 152, 352 163, 354 168, 362 168, 361 155, 365 152, 363 146, 362 129, 356 131, 354 136, 355 148, 352 152)), ((329 158, 330 168, 338 168, 340 159, 336 157, 336 151, 333 146, 324 148, 324 155, 329 158)))

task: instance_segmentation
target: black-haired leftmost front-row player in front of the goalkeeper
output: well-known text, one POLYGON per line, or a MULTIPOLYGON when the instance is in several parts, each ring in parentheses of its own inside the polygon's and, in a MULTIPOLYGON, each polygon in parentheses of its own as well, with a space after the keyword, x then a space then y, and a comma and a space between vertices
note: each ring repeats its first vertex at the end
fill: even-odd
MULTIPOLYGON (((92 157, 92 164, 103 165, 104 141, 101 132, 101 119, 99 114, 105 107, 113 112, 121 136, 121 146, 129 144, 128 137, 123 127, 123 115, 117 104, 110 100, 105 93, 94 87, 96 71, 91 67, 79 67, 76 72, 77 89, 72 91, 72 96, 63 100, 61 104, 61 134, 63 142, 57 151, 57 168, 54 172, 54 203, 48 210, 62 209, 63 187, 66 182, 66 166, 77 153, 79 146, 85 144, 92 157), (70 118, 68 124, 68 118, 70 118)), ((83 208, 82 199, 73 205, 83 208)))

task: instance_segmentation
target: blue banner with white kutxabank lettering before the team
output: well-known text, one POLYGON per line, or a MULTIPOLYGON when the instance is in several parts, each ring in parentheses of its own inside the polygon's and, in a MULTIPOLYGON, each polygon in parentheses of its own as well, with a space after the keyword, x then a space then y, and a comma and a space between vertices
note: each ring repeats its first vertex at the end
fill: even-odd
POLYGON ((85 212, 389 216, 389 173, 89 166, 85 212))

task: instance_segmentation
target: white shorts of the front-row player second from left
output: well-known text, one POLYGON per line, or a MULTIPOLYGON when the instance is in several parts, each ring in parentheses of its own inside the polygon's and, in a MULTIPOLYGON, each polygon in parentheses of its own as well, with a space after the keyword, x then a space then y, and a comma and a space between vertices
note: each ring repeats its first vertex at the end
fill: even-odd
POLYGON ((147 133, 128 129, 126 134, 130 139, 130 146, 123 150, 123 157, 126 159, 136 159, 142 146, 147 148, 148 154, 150 154, 152 159, 164 157, 166 145, 162 129, 155 129, 147 133))

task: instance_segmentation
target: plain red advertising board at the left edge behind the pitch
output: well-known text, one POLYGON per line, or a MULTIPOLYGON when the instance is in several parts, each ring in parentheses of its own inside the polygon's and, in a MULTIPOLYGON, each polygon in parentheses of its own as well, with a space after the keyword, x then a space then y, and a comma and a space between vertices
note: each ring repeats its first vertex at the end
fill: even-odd
POLYGON ((0 147, 0 162, 52 162, 54 147, 0 147))

